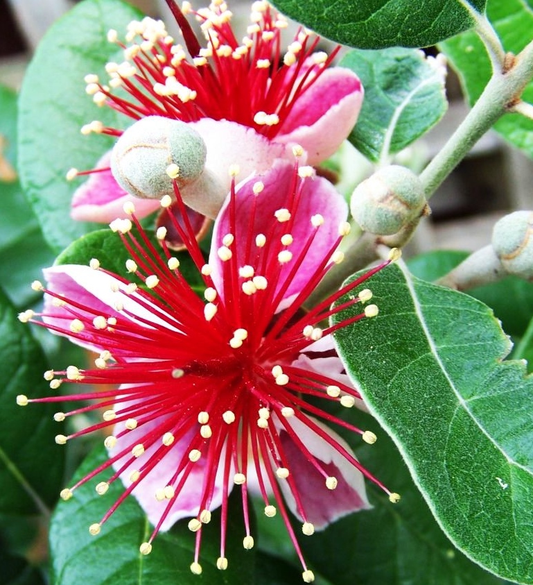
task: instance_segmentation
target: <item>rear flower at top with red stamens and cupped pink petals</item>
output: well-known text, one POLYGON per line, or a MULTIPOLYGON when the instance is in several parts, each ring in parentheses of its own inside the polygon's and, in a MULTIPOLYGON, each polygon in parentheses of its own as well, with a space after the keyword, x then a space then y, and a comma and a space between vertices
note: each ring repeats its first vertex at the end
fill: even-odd
MULTIPOLYGON (((98 105, 108 105, 133 120, 156 115, 191 123, 218 121, 196 127, 207 144, 207 167, 220 156, 239 165, 248 158, 256 164, 253 170, 261 172, 268 168, 260 168, 264 151, 270 158, 274 154, 290 158, 294 144, 304 148, 308 164, 314 165, 331 156, 347 138, 358 117, 362 86, 349 69, 328 68, 338 49, 331 56, 316 52, 320 38, 299 31, 283 53, 280 35, 286 20, 265 1, 254 2, 252 24, 241 42, 231 28, 231 12, 225 3, 213 2, 194 12, 189 3, 184 3, 182 11, 173 1, 167 2, 186 46, 174 44, 164 24, 148 17, 130 23, 125 43, 116 31, 110 31, 110 41, 123 49, 125 60, 107 64, 107 84, 96 75, 86 76, 87 92, 98 105), (195 15, 201 23, 204 48, 184 13, 195 15), (228 143, 233 135, 235 139, 228 143)), ((121 135, 120 130, 98 121, 82 128, 82 133, 91 132, 121 135)), ((123 190, 114 185, 105 161, 99 161, 97 169, 103 169, 103 176, 82 185, 74 195, 73 219, 110 221, 116 217, 116 200, 123 197, 123 190)), ((70 177, 85 173, 73 171, 70 177)), ((227 192, 229 179, 223 173, 219 176, 227 192)), ((156 208, 157 204, 145 202, 137 213, 143 217, 156 208)))

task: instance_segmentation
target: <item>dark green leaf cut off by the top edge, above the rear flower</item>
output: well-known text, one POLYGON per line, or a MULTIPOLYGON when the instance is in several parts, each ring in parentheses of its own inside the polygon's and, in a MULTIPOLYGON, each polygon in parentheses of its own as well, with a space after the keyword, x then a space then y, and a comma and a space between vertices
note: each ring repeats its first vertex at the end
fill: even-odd
POLYGON ((473 26, 486 0, 274 0, 283 14, 359 49, 429 46, 473 26))

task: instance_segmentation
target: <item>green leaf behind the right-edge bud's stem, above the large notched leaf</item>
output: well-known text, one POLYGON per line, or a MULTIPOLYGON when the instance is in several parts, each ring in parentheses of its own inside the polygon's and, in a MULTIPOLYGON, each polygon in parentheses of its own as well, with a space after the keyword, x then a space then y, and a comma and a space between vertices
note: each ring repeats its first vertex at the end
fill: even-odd
MULTIPOLYGON (((469 253, 461 251, 432 251, 408 260, 410 271, 423 280, 437 280, 462 262, 469 253)), ((527 321, 533 315, 533 282, 517 276, 507 276, 490 285, 467 291, 489 305, 502 322, 505 332, 522 337, 527 321)), ((523 356, 521 356, 523 357, 523 356)))

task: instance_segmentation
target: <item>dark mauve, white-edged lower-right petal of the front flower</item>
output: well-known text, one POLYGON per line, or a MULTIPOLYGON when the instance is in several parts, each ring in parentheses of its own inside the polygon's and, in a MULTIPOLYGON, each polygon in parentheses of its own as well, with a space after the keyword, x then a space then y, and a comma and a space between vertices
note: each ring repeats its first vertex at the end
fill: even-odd
MULTIPOLYGON (((348 444, 338 434, 311 416, 308 418, 353 455, 348 444)), ((330 490, 326 487, 324 477, 309 463, 299 446, 292 441, 288 432, 283 430, 281 424, 278 423, 278 425, 280 425, 281 446, 287 457, 288 468, 296 484, 299 498, 302 500, 308 522, 313 523, 316 529, 322 529, 342 516, 371 507, 367 500, 362 473, 344 459, 337 450, 315 434, 305 423, 295 417, 290 418, 292 429, 295 430, 306 448, 321 462, 328 475, 337 478, 337 487, 330 490)), ((288 483, 281 480, 279 485, 292 513, 303 520, 297 511, 295 498, 288 483)))

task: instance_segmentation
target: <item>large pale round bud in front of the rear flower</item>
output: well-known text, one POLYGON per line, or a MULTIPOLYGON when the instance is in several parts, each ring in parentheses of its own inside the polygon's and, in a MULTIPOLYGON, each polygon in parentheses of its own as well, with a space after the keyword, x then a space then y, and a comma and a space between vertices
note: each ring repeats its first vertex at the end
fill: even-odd
POLYGON ((148 116, 136 121, 116 141, 111 170, 128 193, 155 199, 193 183, 204 170, 207 151, 200 134, 185 122, 148 116), (169 168, 173 172, 169 172, 169 168))

